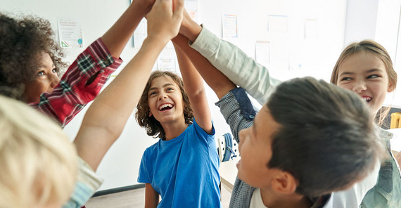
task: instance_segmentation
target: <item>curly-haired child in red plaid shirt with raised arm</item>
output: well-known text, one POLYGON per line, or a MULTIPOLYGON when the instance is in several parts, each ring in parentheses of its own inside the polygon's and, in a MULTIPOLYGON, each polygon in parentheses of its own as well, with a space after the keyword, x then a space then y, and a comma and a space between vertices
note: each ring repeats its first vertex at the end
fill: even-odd
POLYGON ((153 2, 133 1, 61 79, 64 53, 53 39, 49 21, 31 16, 17 20, 0 13, 0 93, 29 103, 65 126, 121 65, 122 50, 153 2))

